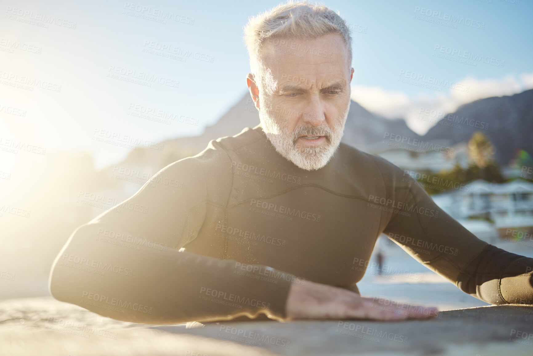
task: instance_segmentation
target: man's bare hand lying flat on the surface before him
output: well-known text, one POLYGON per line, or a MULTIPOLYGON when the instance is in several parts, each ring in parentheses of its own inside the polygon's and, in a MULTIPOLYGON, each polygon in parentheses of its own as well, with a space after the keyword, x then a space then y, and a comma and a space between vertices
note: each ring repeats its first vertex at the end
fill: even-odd
POLYGON ((438 313, 436 307, 398 304, 390 300, 385 303, 381 298, 365 298, 351 290, 310 281, 293 282, 286 303, 287 320, 429 319, 436 317, 438 313))

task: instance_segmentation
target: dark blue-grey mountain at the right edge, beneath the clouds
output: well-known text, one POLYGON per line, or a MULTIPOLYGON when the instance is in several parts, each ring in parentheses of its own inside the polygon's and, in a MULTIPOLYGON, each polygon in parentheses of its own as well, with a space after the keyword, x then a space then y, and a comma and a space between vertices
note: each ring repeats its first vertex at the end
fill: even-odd
POLYGON ((520 149, 533 153, 533 89, 465 104, 442 118, 427 131, 424 139, 447 138, 455 145, 469 140, 475 131, 483 132, 490 139, 500 165, 508 165, 520 149), (486 123, 488 127, 482 128, 486 123))

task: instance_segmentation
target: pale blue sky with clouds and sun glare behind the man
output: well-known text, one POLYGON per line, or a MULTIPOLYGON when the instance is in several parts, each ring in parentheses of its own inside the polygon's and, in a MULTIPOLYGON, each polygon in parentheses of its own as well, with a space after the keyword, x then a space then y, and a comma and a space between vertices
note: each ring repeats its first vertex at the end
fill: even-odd
MULTIPOLYGON (((418 133, 422 109, 533 88, 531 1, 323 3, 352 29, 352 99, 418 133)), ((198 135, 246 93, 243 26, 277 4, 0 1, 0 173, 56 151, 103 168, 124 141, 198 135)))

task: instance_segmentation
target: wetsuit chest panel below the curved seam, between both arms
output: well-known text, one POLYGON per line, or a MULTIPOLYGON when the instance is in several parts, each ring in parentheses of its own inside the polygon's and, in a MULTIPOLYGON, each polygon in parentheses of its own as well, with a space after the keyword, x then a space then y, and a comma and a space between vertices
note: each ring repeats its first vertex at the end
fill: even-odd
POLYGON ((227 236, 230 259, 348 286, 365 272, 352 267, 372 253, 379 216, 364 200, 301 187, 228 209, 214 233, 227 236))

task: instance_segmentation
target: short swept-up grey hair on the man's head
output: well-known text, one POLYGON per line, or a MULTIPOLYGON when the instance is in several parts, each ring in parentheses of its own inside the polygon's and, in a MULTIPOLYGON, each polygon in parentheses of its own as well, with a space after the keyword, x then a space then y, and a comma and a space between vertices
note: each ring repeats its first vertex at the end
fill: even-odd
POLYGON ((338 33, 348 47, 348 63, 352 62, 352 37, 346 21, 325 5, 289 0, 286 4, 279 4, 270 11, 249 19, 244 32, 254 76, 263 72, 260 61, 262 45, 273 38, 316 38, 338 33))

